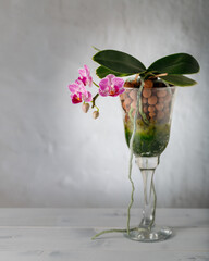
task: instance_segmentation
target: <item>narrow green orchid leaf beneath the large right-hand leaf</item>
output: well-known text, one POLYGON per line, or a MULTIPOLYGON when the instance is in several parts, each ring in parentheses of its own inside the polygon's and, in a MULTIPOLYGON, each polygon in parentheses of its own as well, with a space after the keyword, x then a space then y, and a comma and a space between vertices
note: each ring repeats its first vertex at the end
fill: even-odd
POLYGON ((172 84, 175 86, 193 86, 195 84, 197 84, 197 82, 195 82, 194 79, 190 79, 186 76, 183 75, 174 75, 174 74, 170 74, 167 76, 161 76, 160 77, 162 80, 167 82, 168 84, 172 84))

